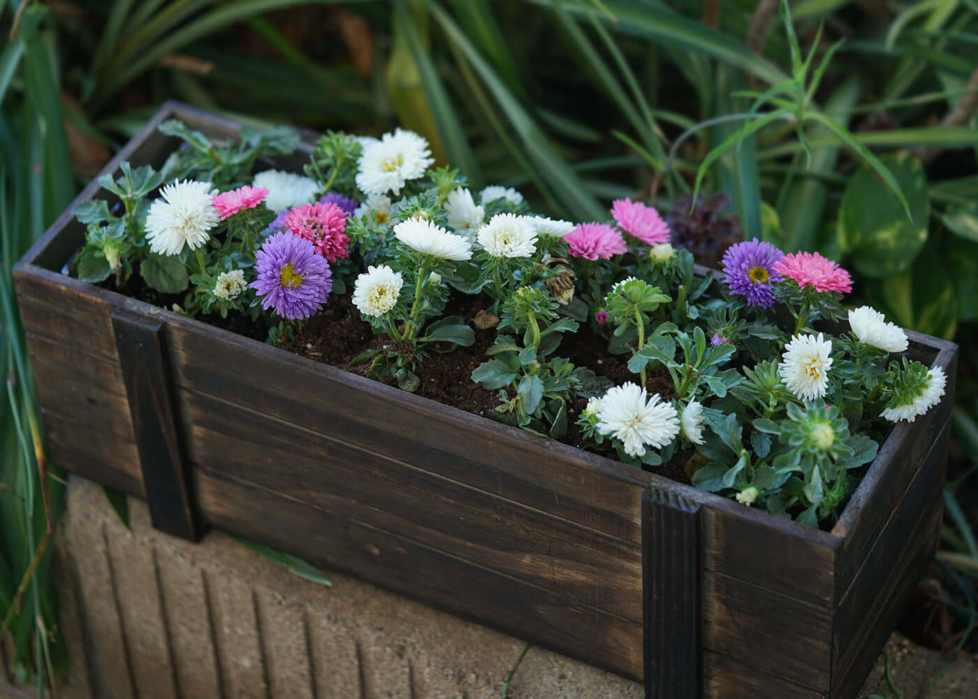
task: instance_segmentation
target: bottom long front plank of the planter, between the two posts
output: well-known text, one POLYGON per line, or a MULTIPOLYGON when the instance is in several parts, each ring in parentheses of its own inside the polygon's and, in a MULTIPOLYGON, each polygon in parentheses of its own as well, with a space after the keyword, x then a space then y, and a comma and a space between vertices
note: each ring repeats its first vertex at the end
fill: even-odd
POLYGON ((201 512, 216 527, 642 681, 640 624, 226 475, 194 472, 201 512))

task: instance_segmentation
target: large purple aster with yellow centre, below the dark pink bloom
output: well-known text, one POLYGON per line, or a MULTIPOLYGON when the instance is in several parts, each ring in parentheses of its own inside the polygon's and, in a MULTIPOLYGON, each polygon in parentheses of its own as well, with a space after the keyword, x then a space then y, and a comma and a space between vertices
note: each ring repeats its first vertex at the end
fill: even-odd
POLYGON ((274 306, 289 320, 313 315, 333 291, 330 263, 312 243, 288 231, 265 239, 254 268, 258 278, 249 286, 264 297, 261 307, 274 306))

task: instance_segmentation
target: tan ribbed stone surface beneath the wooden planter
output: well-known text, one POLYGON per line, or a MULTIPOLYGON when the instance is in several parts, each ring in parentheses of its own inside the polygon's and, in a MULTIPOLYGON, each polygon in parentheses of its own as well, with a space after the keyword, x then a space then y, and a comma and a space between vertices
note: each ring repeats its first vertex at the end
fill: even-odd
MULTIPOLYGON (((139 500, 129 511, 131 532, 100 487, 72 478, 55 559, 71 662, 62 699, 496 699, 525 646, 346 576, 309 582, 220 532, 199 544, 159 534, 139 500)), ((948 662, 897 633, 880 671, 883 657, 900 693, 870 676, 860 697, 978 699, 974 657, 948 662)), ((25 696, 0 678, 4 695, 25 696)), ((531 648, 509 696, 643 689, 531 648)))

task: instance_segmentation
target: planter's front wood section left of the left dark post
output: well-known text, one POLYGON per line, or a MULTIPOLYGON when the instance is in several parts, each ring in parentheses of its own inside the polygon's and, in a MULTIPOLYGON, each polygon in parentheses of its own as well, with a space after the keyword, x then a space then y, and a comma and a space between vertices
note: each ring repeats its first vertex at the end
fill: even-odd
POLYGON ((32 265, 20 267, 15 281, 52 461, 145 497, 111 330, 114 304, 32 265))

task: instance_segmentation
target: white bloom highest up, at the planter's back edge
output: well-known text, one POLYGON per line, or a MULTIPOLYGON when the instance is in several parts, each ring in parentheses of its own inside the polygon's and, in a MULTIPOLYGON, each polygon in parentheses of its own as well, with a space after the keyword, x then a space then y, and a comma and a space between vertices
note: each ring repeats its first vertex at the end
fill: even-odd
POLYGON ((365 194, 401 193, 408 180, 418 179, 434 163, 428 142, 403 128, 363 143, 357 161, 357 187, 365 194))

